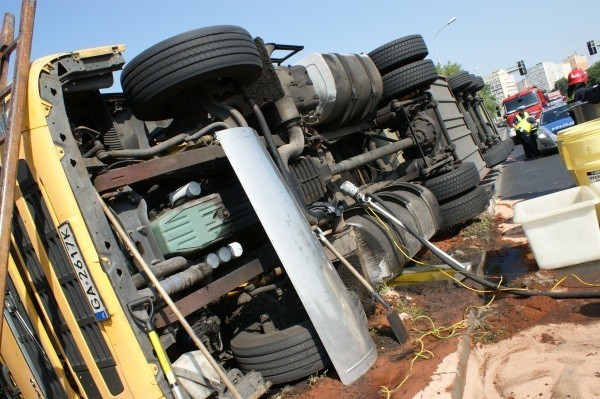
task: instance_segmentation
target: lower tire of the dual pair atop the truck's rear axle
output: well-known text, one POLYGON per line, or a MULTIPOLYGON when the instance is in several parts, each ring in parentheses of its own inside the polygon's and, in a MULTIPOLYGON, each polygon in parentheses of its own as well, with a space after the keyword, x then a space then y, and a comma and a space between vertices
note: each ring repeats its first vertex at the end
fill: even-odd
POLYGON ((428 89, 439 75, 431 60, 415 61, 383 75, 382 104, 417 89, 428 89))

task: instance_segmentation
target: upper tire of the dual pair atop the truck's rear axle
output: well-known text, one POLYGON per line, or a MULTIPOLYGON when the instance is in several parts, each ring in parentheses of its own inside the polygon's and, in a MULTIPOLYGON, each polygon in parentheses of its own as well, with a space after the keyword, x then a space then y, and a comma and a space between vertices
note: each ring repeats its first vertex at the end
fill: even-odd
POLYGON ((369 58, 383 75, 427 57, 429 51, 421 35, 404 36, 371 51, 369 58))

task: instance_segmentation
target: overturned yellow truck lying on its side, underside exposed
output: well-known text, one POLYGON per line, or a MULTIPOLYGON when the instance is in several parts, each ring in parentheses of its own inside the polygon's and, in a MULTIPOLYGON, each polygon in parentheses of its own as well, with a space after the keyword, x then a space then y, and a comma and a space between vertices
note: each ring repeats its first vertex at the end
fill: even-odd
POLYGON ((124 49, 31 65, 5 395, 250 398, 331 365, 355 381, 376 359, 372 303, 313 231, 374 284, 421 244, 342 183, 378 193, 427 239, 489 203, 427 92, 440 77, 423 39, 292 66, 273 53, 300 47, 236 26, 128 63, 124 49))

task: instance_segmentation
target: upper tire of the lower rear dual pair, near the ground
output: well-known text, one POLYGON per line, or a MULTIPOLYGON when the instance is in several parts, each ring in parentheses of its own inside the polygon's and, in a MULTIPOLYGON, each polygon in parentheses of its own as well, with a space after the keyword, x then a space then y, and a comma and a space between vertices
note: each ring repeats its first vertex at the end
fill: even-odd
POLYGON ((477 166, 473 162, 463 162, 450 172, 426 180, 423 185, 443 202, 469 191, 480 181, 477 166))

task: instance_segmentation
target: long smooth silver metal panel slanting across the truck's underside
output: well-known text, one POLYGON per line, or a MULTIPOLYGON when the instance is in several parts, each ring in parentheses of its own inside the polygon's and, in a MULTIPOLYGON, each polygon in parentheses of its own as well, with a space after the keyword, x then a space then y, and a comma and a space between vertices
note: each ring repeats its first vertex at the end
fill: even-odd
POLYGON ((344 284, 257 133, 233 128, 217 132, 217 138, 340 380, 354 382, 375 363, 377 351, 344 284))

